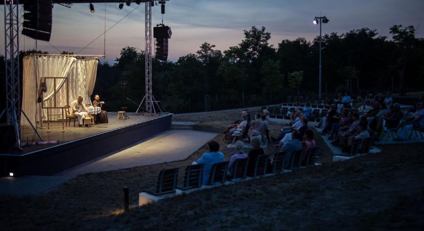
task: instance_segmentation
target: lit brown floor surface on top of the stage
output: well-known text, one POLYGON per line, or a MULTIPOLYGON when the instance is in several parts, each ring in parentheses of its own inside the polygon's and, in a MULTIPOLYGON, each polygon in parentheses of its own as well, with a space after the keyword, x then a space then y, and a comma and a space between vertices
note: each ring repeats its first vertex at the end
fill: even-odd
MULTIPOLYGON (((94 127, 79 127, 78 126, 78 120, 76 121, 76 126, 73 126, 73 120, 71 120, 70 126, 65 126, 65 132, 62 132, 61 128, 50 128, 50 132, 47 132, 47 123, 44 123, 44 126, 46 128, 38 128, 38 132, 40 133, 41 137, 44 139, 44 141, 55 141, 59 140, 60 143, 78 140, 81 138, 93 136, 96 134, 100 134, 106 131, 111 131, 114 129, 119 129, 125 126, 130 126, 136 123, 145 122, 151 119, 156 119, 160 117, 164 117, 168 115, 169 113, 164 114, 156 114, 156 115, 140 115, 140 114, 131 114, 128 113, 128 116, 130 119, 126 120, 118 120, 117 119, 117 112, 108 112, 108 120, 109 123, 106 124, 96 124, 94 127)), ((50 123, 50 126, 62 126, 62 122, 52 122, 50 123)), ((22 129, 22 138, 21 142, 31 142, 31 141, 40 141, 39 137, 35 134, 34 130, 31 126, 26 125, 21 127, 22 129)), ((46 147, 54 146, 57 144, 43 144, 43 145, 30 145, 30 146, 23 146, 22 152, 16 152, 11 151, 9 153, 26 153, 31 152, 33 150, 43 149, 46 147)))

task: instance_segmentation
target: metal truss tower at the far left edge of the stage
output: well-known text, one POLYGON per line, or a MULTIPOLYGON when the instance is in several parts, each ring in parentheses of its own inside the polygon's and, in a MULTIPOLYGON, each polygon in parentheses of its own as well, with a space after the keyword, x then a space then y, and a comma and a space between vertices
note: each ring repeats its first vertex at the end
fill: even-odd
POLYGON ((0 118, 6 116, 13 125, 16 146, 21 147, 21 84, 19 69, 19 0, 4 0, 5 4, 5 90, 6 108, 0 118))

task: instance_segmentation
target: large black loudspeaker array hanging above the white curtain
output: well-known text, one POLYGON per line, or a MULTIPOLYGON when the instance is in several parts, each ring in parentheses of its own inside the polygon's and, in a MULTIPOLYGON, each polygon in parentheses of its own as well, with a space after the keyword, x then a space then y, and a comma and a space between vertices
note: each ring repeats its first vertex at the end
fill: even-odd
POLYGON ((50 41, 52 7, 52 0, 24 1, 22 34, 35 40, 50 41))

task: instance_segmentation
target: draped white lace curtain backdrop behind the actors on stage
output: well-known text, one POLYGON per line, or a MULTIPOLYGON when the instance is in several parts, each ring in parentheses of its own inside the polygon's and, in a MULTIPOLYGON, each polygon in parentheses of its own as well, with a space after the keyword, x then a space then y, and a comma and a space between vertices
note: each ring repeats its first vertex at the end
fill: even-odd
MULTIPOLYGON (((91 104, 90 95, 93 93, 97 74, 97 59, 80 60, 73 56, 59 55, 31 55, 24 57, 24 80, 22 108, 27 113, 32 124, 36 121, 47 120, 47 109, 40 114, 40 107, 36 103, 38 88, 42 77, 66 77, 66 82, 57 80, 53 86, 53 80, 47 80, 47 92, 44 93, 44 106, 54 106, 54 88, 56 88, 56 106, 67 105, 66 87, 69 89, 69 104, 76 100, 79 95, 84 98, 84 104, 91 104)), ((61 109, 50 109, 50 114, 61 114, 61 109)), ((50 116, 50 120, 61 119, 60 115, 50 116)), ((21 120, 21 124, 27 124, 27 120, 21 120)))

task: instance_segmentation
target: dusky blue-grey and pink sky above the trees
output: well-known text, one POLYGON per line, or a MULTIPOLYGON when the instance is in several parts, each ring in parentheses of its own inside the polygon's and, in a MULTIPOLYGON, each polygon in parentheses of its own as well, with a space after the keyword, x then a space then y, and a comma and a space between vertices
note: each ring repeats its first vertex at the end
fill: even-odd
MULTIPOLYGON (((105 4, 95 4, 95 13, 90 13, 88 4, 73 4, 66 8, 55 4, 50 44, 60 51, 77 53, 104 31, 105 4)), ((138 5, 135 3, 122 10, 118 4, 106 4, 106 28, 114 25, 138 5)), ((4 8, 1 6, 2 14, 4 8)), ((278 46, 282 40, 306 37, 312 40, 319 35, 319 26, 312 24, 314 16, 326 15, 328 24, 323 24, 323 33, 339 34, 352 29, 368 27, 377 29, 381 35, 391 38, 392 25, 413 25, 417 37, 424 36, 424 1, 422 0, 170 0, 166 4, 163 22, 172 29, 169 44, 169 59, 176 61, 179 56, 194 53, 199 46, 208 42, 216 49, 226 50, 236 46, 244 37, 243 30, 252 26, 265 26, 271 32, 270 44, 278 46)), ((2 29, 4 17, 1 17, 2 29)), ((160 6, 152 8, 152 25, 161 21, 160 6)), ((22 28, 21 28, 22 29, 22 28)), ((21 36, 21 50, 35 48, 34 40, 21 36)), ((4 36, 0 53, 4 54, 4 36)), ((119 57, 125 46, 144 50, 144 5, 106 33, 106 60, 119 57)), ((43 41, 37 44, 39 50, 59 53, 43 41)), ((103 36, 80 54, 103 54, 103 36)), ((102 62, 102 60, 101 60, 102 62)))

